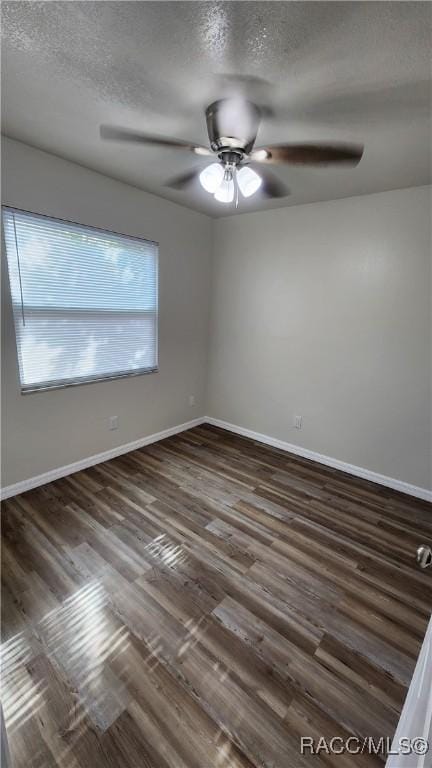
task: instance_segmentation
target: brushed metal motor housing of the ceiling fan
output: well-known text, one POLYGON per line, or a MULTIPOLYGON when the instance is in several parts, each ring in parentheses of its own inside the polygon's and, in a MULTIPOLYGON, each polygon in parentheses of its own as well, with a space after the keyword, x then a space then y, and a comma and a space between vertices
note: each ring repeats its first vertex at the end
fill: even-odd
MULTIPOLYGON (((238 150, 249 154, 255 143, 261 112, 251 101, 220 99, 206 109, 207 131, 213 152, 238 150)), ((222 158, 221 158, 222 159, 222 158)), ((237 161, 239 162, 239 161, 237 161)))

